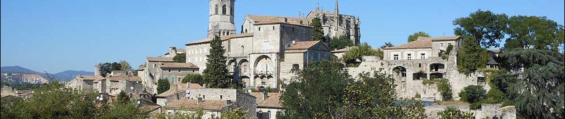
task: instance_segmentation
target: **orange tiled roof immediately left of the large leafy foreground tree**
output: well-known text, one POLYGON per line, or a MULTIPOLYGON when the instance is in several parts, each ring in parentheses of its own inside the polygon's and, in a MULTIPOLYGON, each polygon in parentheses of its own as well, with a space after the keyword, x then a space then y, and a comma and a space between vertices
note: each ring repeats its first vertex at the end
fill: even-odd
POLYGON ((279 101, 281 96, 280 92, 268 92, 267 99, 265 100, 263 100, 263 92, 251 92, 250 94, 257 98, 258 107, 282 108, 282 104, 279 101))

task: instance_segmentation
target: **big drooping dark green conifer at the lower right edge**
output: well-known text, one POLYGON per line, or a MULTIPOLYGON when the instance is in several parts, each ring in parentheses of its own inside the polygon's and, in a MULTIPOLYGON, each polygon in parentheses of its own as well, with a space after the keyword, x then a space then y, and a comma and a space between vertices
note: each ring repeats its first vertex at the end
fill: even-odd
POLYGON ((501 54, 522 78, 510 85, 517 113, 526 118, 563 118, 565 58, 553 51, 515 49, 501 54), (523 68, 523 69, 522 69, 523 68))

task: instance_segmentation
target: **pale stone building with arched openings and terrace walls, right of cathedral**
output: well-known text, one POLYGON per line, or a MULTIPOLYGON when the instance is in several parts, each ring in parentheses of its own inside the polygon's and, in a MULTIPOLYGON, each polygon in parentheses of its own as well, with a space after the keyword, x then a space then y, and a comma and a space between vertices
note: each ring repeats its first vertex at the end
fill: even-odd
POLYGON ((468 85, 481 85, 486 90, 490 87, 484 82, 479 82, 480 73, 469 75, 461 74, 457 70, 457 52, 461 46, 459 36, 444 37, 418 37, 418 40, 404 45, 384 48, 384 58, 363 57, 362 63, 357 68, 348 68, 351 76, 362 72, 380 71, 392 74, 396 79, 396 90, 399 98, 411 99, 421 95, 424 100, 441 100, 442 96, 437 91, 437 86, 429 80, 433 78, 446 78, 451 84, 453 98, 468 85), (447 47, 453 49, 449 55, 444 56, 447 47))

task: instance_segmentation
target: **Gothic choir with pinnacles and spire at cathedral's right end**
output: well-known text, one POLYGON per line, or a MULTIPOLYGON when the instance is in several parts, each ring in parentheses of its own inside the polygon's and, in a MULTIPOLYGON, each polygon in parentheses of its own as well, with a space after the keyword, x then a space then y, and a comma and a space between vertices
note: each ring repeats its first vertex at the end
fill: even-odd
POLYGON ((337 0, 333 12, 320 10, 320 6, 318 5, 316 6, 316 10, 310 11, 306 16, 307 19, 310 19, 309 21, 312 21, 311 19, 314 19, 314 17, 320 19, 325 37, 345 36, 351 39, 354 45, 360 45, 361 21, 359 17, 340 14, 340 7, 337 0))

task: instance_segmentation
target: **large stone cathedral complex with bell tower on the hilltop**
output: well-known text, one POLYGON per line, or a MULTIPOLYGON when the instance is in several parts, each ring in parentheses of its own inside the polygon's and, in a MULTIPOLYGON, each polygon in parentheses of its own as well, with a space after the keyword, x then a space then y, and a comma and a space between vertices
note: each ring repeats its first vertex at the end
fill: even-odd
POLYGON ((359 17, 339 14, 338 1, 334 12, 318 5, 306 17, 246 15, 240 34, 234 5, 233 0, 211 0, 207 37, 185 44, 186 63, 196 65, 199 72, 206 69, 211 39, 220 36, 234 80, 247 88, 278 88, 290 80, 293 70, 332 55, 327 43, 312 40, 314 17, 320 18, 327 38, 345 36, 359 44, 359 17))

